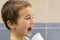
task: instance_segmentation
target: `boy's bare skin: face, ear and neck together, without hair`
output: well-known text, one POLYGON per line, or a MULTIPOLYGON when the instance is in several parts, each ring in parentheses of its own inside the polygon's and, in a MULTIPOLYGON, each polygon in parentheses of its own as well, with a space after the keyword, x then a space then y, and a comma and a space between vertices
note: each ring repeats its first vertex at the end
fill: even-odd
POLYGON ((11 29, 10 30, 11 39, 24 40, 24 36, 30 35, 32 31, 32 27, 34 25, 34 21, 32 17, 32 8, 26 7, 24 9, 21 9, 18 12, 18 15, 19 17, 17 20, 17 24, 11 24, 10 21, 7 21, 7 24, 11 29), (28 28, 31 28, 31 30, 28 31, 28 28))

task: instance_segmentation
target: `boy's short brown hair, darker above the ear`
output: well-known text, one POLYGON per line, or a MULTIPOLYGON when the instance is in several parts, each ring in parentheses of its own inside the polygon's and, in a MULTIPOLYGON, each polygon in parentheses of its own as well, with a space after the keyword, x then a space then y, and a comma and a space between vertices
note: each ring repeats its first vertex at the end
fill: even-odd
POLYGON ((8 29, 7 21, 11 23, 17 23, 18 11, 25 8, 31 7, 31 4, 27 1, 7 1, 1 10, 2 19, 8 29))

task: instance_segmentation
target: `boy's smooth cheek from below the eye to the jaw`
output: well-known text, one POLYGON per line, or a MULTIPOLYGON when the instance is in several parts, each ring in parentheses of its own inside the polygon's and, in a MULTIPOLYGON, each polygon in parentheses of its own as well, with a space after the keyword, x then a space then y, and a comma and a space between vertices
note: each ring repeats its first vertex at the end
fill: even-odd
POLYGON ((16 32, 18 32, 19 34, 26 34, 28 27, 29 21, 27 20, 18 21, 18 25, 16 26, 16 32))

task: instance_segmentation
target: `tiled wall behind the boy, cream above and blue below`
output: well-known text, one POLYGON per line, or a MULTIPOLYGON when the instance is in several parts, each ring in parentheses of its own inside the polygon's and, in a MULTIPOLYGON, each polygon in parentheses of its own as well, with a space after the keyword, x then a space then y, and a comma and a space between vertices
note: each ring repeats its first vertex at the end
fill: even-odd
MULTIPOLYGON (((1 8, 7 0, 0 0, 0 39, 9 40, 9 30, 3 24, 1 8)), ((40 33, 44 40, 60 40, 60 0, 28 0, 33 7, 34 27, 31 38, 40 33)))

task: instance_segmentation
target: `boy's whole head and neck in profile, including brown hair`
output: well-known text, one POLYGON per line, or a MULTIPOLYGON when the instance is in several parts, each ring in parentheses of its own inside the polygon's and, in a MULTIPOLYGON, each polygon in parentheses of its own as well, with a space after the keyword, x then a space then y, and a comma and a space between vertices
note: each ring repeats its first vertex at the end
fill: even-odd
POLYGON ((34 25, 32 6, 28 1, 7 1, 1 10, 2 19, 10 30, 10 40, 27 40, 34 25))

